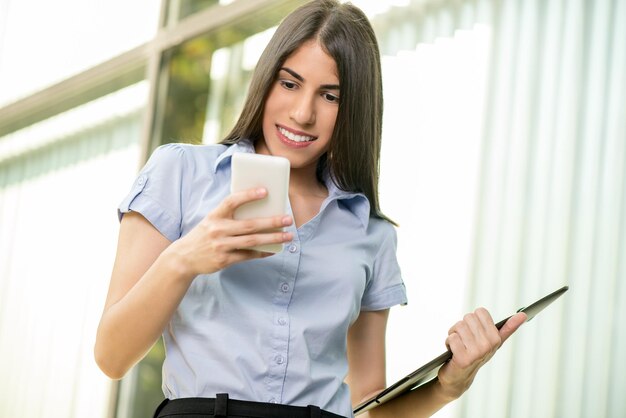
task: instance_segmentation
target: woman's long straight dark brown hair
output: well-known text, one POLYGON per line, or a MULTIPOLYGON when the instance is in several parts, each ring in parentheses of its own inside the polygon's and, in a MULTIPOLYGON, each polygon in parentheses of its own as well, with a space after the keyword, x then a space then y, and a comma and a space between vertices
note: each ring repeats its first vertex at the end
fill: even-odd
POLYGON ((318 163, 318 178, 328 169, 337 187, 363 193, 370 214, 393 223, 378 202, 383 116, 378 42, 365 14, 349 3, 311 1, 282 21, 259 58, 239 120, 221 143, 263 137, 265 100, 278 71, 311 39, 335 60, 341 86, 337 121, 328 152, 318 163))

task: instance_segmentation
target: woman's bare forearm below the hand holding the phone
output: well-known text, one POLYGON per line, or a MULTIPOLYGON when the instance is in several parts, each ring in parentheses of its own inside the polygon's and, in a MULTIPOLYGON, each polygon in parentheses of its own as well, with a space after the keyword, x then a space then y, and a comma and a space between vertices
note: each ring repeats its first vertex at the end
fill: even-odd
POLYGON ((105 374, 120 379, 143 358, 192 280, 166 250, 124 297, 105 308, 94 349, 96 362, 105 374))

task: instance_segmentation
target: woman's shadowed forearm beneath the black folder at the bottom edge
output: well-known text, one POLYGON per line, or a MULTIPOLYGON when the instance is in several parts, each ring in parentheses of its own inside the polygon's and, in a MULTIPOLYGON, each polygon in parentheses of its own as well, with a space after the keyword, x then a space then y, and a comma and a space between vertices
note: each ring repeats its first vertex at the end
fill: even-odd
POLYGON ((406 395, 360 415, 362 418, 422 418, 430 417, 456 398, 445 394, 438 380, 420 386, 406 395))

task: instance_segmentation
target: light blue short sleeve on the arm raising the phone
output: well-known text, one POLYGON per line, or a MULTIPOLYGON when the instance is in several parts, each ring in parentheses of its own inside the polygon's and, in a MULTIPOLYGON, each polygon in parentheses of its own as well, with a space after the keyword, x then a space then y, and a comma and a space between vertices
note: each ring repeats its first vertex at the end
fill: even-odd
POLYGON ((120 220, 125 213, 138 212, 168 240, 180 238, 184 152, 178 144, 166 144, 152 153, 118 206, 120 220))

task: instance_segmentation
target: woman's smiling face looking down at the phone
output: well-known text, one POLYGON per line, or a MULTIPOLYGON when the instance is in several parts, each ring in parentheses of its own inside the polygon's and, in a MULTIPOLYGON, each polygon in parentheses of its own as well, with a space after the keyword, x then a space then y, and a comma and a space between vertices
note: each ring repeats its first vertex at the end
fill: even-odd
POLYGON ((338 110, 337 65, 317 41, 306 42, 285 60, 270 89, 257 152, 314 172, 328 149, 338 110))

